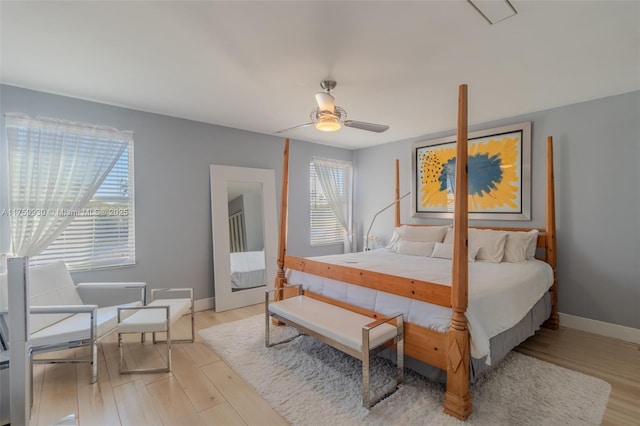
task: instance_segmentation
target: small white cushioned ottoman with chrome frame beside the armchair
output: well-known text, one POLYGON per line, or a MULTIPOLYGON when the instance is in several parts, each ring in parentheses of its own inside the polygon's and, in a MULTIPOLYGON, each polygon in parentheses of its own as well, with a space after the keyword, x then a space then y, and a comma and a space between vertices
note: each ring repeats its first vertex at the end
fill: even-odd
POLYGON ((139 307, 120 307, 118 308, 118 349, 120 352, 120 374, 131 373, 162 373, 171 371, 171 343, 194 341, 194 318, 193 318, 193 289, 192 288, 163 288, 151 290, 151 303, 146 306, 139 307), (188 294, 183 298, 158 298, 160 293, 164 295, 173 295, 175 293, 188 294), (172 294, 173 293, 173 294, 172 294), (126 316, 128 311, 134 311, 133 314, 126 316), (188 339, 174 339, 171 337, 171 325, 180 317, 190 313, 191 315, 191 337, 188 339), (124 364, 123 355, 123 334, 143 334, 152 333, 153 343, 158 343, 156 333, 166 333, 167 357, 166 365, 161 368, 135 368, 127 369, 124 364))

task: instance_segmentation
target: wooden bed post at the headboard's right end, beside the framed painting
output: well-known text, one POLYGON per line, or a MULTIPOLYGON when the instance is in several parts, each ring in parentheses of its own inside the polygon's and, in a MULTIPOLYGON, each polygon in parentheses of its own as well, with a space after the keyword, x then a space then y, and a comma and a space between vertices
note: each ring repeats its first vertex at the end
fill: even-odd
POLYGON ((551 315, 543 324, 544 327, 557 330, 560 327, 558 315, 558 277, 556 276, 556 202, 553 176, 553 136, 547 137, 547 224, 546 261, 553 268, 553 285, 549 289, 551 295, 551 315))

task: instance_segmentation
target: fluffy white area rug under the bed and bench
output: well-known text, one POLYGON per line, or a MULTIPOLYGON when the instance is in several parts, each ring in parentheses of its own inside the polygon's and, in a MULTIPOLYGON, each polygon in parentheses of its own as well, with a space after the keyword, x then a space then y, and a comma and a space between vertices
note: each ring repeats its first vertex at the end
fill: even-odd
MULTIPOLYGON (((274 342, 296 334, 272 326, 274 342)), ((400 390, 366 410, 360 361, 309 336, 265 348, 262 315, 200 335, 292 425, 597 425, 611 390, 600 379, 512 352, 472 385, 473 413, 463 423, 443 413, 444 385, 409 370, 400 390)), ((392 374, 391 364, 376 359, 372 386, 392 374)))

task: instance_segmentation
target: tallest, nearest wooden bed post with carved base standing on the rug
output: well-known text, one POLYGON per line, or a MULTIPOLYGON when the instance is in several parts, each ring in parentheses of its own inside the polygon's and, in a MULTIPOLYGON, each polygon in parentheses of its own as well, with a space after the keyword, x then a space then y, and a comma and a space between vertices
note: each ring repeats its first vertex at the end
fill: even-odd
POLYGON ((447 392, 444 412, 466 419, 471 414, 469 394, 468 304, 468 197, 467 197, 467 85, 458 91, 458 143, 456 153, 455 214, 453 219, 453 275, 451 283, 451 327, 447 332, 447 392))

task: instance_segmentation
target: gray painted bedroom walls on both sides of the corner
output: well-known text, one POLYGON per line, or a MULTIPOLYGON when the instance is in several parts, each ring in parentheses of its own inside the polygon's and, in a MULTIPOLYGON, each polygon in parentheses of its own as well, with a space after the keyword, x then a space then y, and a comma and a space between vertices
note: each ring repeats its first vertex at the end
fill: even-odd
MULTIPOLYGON (((211 297, 209 164, 271 168, 277 183, 282 178, 281 138, 11 86, 0 86, 0 109, 135 131, 137 264, 76 273, 76 281, 144 280, 151 288, 193 286, 197 299, 211 297)), ((451 112, 452 129, 455 113, 451 112)), ((469 116, 473 123, 472 110, 469 116)), ((640 328, 640 92, 505 118, 470 130, 521 121, 533 123, 532 220, 524 222, 527 226, 544 226, 545 140, 547 135, 555 140, 560 311, 640 328)), ((354 160, 354 220, 362 248, 363 230, 374 212, 393 199, 393 159, 400 159, 404 193, 410 190, 411 143, 453 133, 357 151, 292 141, 288 253, 319 256, 342 250, 342 244, 309 245, 308 176, 313 156, 354 160)), ((279 206, 279 190, 277 197, 279 206)), ((404 222, 412 222, 409 211, 407 198, 402 201, 404 222)), ((389 209, 378 217, 372 232, 385 239, 392 227, 389 209)))

